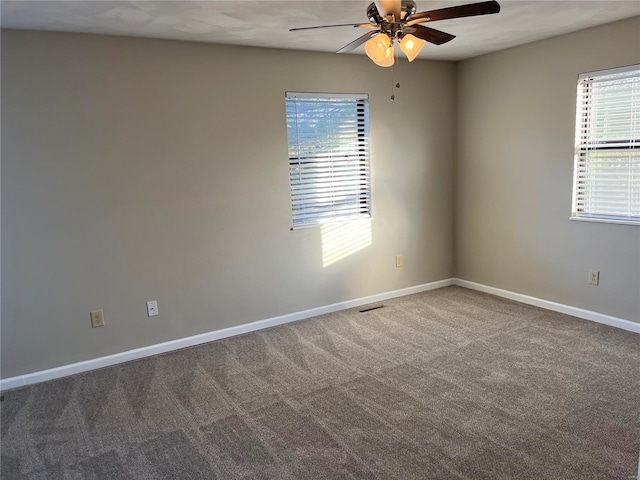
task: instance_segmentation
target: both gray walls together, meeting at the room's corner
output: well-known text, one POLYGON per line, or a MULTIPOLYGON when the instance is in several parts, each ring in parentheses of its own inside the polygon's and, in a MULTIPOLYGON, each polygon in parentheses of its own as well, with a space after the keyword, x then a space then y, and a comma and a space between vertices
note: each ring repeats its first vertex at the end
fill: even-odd
POLYGON ((3 31, 2 378, 454 274, 640 321, 640 228, 569 220, 576 77, 638 32, 405 63, 391 102, 359 55, 3 31), (286 90, 370 94, 362 231, 290 231, 286 90))

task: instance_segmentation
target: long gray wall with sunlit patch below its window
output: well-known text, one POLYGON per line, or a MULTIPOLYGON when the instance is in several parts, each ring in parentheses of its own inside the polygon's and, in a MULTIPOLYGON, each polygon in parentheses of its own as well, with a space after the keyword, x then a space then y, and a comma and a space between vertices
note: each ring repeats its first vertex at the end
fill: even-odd
POLYGON ((391 102, 360 55, 27 31, 1 53, 3 378, 453 276, 452 63, 405 63, 391 102), (290 231, 286 90, 370 94, 365 231, 290 231))

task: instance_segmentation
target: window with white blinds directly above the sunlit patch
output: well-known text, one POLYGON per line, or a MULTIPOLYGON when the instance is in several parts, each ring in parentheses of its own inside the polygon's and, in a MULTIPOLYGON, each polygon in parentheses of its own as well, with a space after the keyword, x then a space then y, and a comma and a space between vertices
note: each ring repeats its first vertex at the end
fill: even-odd
POLYGON ((369 96, 286 93, 293 229, 371 217, 369 96))

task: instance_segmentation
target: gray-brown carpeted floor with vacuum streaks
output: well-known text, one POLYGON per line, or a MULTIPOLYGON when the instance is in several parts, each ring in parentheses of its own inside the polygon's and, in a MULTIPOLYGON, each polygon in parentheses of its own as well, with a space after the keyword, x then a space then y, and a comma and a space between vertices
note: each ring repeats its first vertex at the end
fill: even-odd
POLYGON ((3 479, 625 479, 640 336, 448 287, 5 392, 3 479))

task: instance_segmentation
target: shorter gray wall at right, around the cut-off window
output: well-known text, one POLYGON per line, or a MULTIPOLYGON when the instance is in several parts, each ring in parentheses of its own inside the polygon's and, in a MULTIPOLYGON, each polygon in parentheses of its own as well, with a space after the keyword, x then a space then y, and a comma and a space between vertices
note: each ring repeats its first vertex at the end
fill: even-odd
POLYGON ((458 65, 458 278, 640 322, 640 228, 569 220, 577 76, 634 63, 639 17, 458 65))

